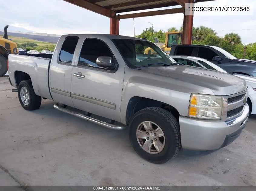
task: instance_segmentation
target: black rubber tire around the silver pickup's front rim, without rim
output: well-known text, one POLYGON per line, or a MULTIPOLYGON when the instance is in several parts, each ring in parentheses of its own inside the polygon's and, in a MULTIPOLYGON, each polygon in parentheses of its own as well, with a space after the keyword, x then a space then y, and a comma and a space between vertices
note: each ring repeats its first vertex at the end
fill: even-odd
POLYGON ((151 163, 166 163, 175 158, 181 150, 179 123, 170 112, 160 107, 147 107, 135 113, 129 125, 129 136, 138 155, 151 163), (136 130, 143 121, 152 121, 157 124, 165 135, 165 146, 158 154, 144 151, 137 141, 136 130))

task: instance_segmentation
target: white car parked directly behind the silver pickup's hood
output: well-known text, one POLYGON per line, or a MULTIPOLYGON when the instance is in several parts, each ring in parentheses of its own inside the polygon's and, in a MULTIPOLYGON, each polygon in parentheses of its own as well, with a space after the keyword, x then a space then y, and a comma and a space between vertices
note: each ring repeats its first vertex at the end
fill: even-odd
MULTIPOLYGON (((219 72, 228 73, 218 65, 203 59, 194 56, 170 56, 176 62, 181 62, 184 65, 196 66, 201 68, 207 68, 212 70, 217 70, 219 72)), ((242 74, 235 74, 231 73, 239 78, 243 78, 248 86, 248 100, 247 103, 250 107, 251 114, 256 114, 256 78, 252 76, 242 75, 242 74)))

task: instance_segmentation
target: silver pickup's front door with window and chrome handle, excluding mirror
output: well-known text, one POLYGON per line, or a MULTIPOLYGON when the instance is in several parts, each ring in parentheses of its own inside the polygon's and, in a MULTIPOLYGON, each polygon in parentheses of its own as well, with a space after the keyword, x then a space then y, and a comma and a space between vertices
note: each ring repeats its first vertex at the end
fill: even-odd
POLYGON ((74 107, 119 121, 125 68, 120 53, 108 38, 81 39, 79 45, 81 49, 71 77, 74 107), (111 63, 118 63, 118 68, 98 66, 96 59, 99 56, 110 56, 111 63))

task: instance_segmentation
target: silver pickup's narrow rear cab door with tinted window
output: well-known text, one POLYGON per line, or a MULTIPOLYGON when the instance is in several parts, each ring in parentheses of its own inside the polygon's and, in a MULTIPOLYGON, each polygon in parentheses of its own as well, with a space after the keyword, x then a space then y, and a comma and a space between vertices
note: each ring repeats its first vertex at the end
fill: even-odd
POLYGON ((71 99, 71 76, 78 37, 63 37, 52 57, 49 82, 53 100, 74 107, 71 99))

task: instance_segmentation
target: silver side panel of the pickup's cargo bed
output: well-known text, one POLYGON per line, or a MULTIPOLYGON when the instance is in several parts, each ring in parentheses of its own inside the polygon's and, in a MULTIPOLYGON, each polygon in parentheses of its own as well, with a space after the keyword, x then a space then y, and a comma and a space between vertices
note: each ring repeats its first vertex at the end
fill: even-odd
POLYGON ((35 94, 52 100, 48 83, 51 59, 10 54, 8 60, 8 73, 13 86, 18 88, 15 73, 24 72, 30 76, 35 94))

